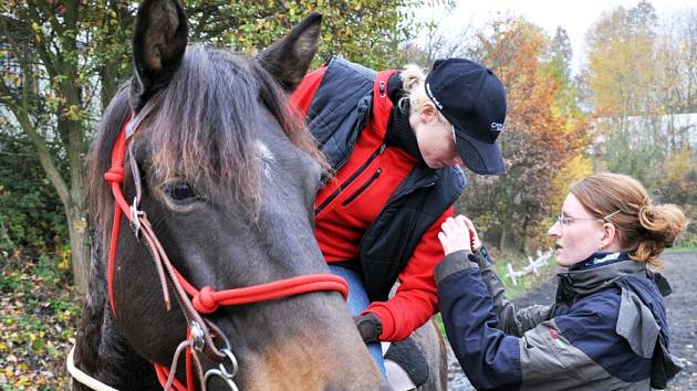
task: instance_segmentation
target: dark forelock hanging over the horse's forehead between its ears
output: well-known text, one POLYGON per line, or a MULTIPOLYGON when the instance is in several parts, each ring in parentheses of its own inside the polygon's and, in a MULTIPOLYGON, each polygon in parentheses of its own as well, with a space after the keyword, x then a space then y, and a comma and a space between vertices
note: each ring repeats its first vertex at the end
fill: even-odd
POLYGON ((259 200, 253 147, 259 87, 245 62, 191 45, 162 94, 143 137, 154 172, 160 179, 183 178, 208 197, 232 193, 253 212, 259 200))

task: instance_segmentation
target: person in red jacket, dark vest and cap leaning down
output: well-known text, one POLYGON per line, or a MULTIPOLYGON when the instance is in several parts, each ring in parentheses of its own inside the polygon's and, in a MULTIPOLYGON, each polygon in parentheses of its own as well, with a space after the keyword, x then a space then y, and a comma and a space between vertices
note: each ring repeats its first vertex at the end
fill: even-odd
POLYGON ((495 141, 506 91, 464 59, 375 72, 341 57, 309 73, 291 96, 335 173, 315 199, 315 235, 383 370, 378 341, 407 338, 438 311, 437 233, 465 188, 460 166, 500 175, 495 141), (396 281, 400 285, 388 299, 396 281))

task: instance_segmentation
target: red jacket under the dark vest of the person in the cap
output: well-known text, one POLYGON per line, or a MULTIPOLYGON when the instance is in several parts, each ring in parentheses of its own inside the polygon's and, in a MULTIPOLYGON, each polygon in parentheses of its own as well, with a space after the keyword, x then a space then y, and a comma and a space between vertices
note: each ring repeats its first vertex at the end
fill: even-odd
MULTIPOLYGON (((326 68, 305 76, 291 96, 304 115, 322 82, 326 68)), ((327 181, 315 199, 315 235, 326 262, 358 257, 358 245, 366 228, 377 216, 388 198, 416 165, 404 150, 384 145, 393 104, 384 91, 395 71, 377 74, 373 112, 348 160, 327 181), (378 87, 384 82, 383 89, 378 87)), ((381 340, 402 340, 438 311, 434 267, 443 258, 437 234, 451 216, 452 207, 426 231, 404 271, 400 285, 387 302, 374 302, 366 311, 383 324, 381 340)))

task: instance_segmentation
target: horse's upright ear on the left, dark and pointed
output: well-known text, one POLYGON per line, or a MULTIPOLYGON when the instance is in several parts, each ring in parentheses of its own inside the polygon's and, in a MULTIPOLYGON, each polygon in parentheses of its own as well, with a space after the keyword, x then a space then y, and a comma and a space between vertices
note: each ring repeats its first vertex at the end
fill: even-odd
POLYGON ((131 107, 137 113, 167 85, 186 50, 188 24, 178 0, 145 0, 138 7, 133 34, 131 107))

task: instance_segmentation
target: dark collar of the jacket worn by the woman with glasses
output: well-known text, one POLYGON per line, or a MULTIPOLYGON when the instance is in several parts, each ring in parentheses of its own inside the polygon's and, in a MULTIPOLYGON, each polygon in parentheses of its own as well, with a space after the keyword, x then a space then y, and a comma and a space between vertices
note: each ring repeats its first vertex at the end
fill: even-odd
POLYGON ((647 272, 645 263, 632 261, 626 253, 595 253, 568 271, 556 274, 558 302, 568 303, 570 298, 604 289, 623 276, 646 277, 647 272))

